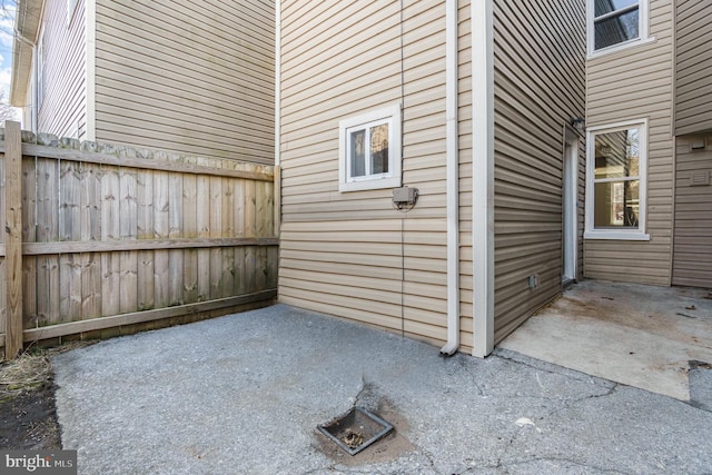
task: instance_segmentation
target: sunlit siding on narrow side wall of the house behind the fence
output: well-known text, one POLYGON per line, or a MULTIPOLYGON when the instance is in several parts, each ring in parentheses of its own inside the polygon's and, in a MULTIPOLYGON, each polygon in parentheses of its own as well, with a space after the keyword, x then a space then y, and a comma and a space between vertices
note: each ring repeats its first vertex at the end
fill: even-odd
MULTIPOLYGON (((44 2, 43 99, 37 130, 59 137, 83 139, 87 126, 86 4, 77 2, 67 22, 67 2, 44 2)), ((31 89, 31 88, 30 88, 31 89)), ((34 100, 32 100, 34 102, 34 100)))

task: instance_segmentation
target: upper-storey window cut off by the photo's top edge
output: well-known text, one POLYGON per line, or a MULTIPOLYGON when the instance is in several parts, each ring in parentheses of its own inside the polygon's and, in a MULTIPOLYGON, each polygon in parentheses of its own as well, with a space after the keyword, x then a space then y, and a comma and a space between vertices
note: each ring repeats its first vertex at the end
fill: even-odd
POLYGON ((647 39, 647 0, 589 0, 589 53, 647 39))

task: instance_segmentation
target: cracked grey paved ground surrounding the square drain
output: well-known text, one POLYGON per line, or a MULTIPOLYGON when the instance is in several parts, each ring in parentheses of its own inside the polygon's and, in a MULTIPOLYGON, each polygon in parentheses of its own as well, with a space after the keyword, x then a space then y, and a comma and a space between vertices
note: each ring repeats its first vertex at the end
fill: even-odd
POLYGON ((457 354, 284 305, 53 359, 79 473, 709 473, 712 414, 498 349, 457 354), (396 431, 352 457, 316 426, 396 431))

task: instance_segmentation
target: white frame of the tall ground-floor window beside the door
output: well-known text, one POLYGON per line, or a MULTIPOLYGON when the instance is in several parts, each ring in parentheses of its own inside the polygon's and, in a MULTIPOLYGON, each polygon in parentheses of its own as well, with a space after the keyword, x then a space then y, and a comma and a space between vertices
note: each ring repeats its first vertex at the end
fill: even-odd
POLYGON ((606 126, 591 127, 586 130, 586 216, 584 239, 650 240, 646 234, 647 216, 647 119, 627 120, 606 126), (630 128, 639 129, 639 215, 637 228, 596 229, 595 208, 595 136, 630 128))

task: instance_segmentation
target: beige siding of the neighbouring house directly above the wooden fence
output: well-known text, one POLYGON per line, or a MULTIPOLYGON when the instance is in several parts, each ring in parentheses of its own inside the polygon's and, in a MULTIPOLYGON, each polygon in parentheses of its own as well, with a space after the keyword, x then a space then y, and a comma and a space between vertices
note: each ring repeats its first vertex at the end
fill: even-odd
POLYGON ((270 1, 97 0, 96 137, 274 161, 270 1))

